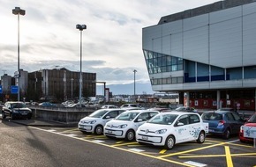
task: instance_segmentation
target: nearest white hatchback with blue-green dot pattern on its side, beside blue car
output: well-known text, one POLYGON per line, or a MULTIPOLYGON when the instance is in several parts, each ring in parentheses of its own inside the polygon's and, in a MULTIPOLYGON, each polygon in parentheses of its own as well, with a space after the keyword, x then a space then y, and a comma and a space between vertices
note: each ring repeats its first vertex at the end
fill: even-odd
POLYGON ((207 127, 208 124, 203 122, 199 113, 158 113, 138 128, 136 140, 172 149, 181 142, 205 142, 207 127))

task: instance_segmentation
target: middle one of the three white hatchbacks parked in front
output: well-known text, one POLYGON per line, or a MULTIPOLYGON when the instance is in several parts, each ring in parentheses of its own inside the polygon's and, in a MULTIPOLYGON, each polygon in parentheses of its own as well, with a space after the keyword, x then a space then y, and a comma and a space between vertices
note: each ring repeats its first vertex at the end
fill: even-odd
POLYGON ((105 125, 104 134, 110 137, 122 138, 125 141, 133 141, 138 127, 157 113, 159 112, 150 110, 126 111, 105 125))

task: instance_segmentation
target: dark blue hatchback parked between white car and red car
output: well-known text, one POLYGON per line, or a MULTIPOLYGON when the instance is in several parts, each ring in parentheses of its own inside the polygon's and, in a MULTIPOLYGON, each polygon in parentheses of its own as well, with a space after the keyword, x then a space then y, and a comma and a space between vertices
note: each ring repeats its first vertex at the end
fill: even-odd
POLYGON ((209 134, 222 135, 224 139, 229 139, 230 134, 238 134, 245 123, 238 113, 230 111, 206 112, 201 117, 204 122, 209 123, 209 134))

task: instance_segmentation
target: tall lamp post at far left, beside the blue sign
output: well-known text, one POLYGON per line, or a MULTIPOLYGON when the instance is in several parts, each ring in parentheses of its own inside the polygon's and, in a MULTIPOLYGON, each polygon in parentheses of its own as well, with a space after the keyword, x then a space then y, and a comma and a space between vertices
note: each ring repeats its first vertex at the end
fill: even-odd
POLYGON ((24 16, 26 13, 25 10, 21 10, 19 7, 15 7, 15 9, 12 10, 12 14, 18 15, 18 76, 17 76, 17 81, 18 81, 18 101, 20 101, 20 96, 19 96, 19 15, 24 16))

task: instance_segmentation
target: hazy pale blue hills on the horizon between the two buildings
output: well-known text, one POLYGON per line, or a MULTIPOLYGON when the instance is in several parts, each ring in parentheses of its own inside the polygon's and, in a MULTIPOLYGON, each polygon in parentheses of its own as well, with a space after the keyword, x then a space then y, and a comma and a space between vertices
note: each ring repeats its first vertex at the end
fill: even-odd
MULTIPOLYGON (((136 83, 136 94, 153 94, 152 87, 150 83, 139 84, 136 83)), ((109 88, 109 91, 113 95, 133 95, 134 94, 134 84, 109 84, 106 85, 106 88, 109 88)), ((97 85, 96 88, 97 95, 103 94, 103 85, 97 85)))

